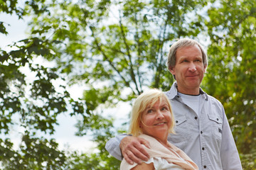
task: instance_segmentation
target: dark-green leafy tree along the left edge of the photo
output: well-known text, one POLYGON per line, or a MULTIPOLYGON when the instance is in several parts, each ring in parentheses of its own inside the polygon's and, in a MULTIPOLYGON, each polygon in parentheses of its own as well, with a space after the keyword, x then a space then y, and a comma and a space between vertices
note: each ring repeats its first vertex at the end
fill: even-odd
MULTIPOLYGON (((28 14, 45 12, 39 4, 44 1, 26 1, 26 7, 18 6, 18 1, 0 1, 1 13, 16 14, 20 19, 28 14)), ((7 23, 0 22, 0 32, 8 34, 7 23)), ((54 81, 62 79, 57 69, 34 64, 38 56, 53 55, 52 45, 58 42, 31 37, 10 45, 11 51, 0 51, 0 158, 1 169, 62 169, 65 166, 65 152, 58 149, 52 135, 57 116, 61 113, 83 113, 78 101, 70 98, 65 86, 54 86, 54 81), (35 77, 31 83, 26 80, 22 69, 35 77), (58 88, 58 90, 56 89, 58 88), (22 139, 18 149, 8 136, 10 128, 18 128, 22 139), (4 134, 4 135, 3 135, 4 134)))

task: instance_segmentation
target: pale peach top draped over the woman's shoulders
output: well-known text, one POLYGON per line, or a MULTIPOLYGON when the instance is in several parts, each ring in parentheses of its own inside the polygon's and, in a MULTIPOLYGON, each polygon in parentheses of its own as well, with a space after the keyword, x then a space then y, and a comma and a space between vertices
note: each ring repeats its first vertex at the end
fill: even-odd
MULTIPOLYGON (((145 147, 146 152, 149 153, 150 158, 153 158, 153 162, 157 164, 157 166, 180 166, 181 169, 188 169, 188 170, 197 170, 198 166, 178 147, 175 147, 171 143, 168 142, 168 147, 164 147, 158 140, 154 137, 149 135, 139 135, 139 137, 144 138, 149 142, 150 149, 145 147), (161 158, 161 159, 158 159, 161 158), (164 161, 164 159, 166 161, 164 161)), ((151 159, 149 159, 151 160, 151 159)), ((149 162, 149 161, 148 161, 149 162)), ((148 163, 146 162, 146 163, 148 163)), ((151 162, 149 162, 150 164, 151 162)), ((137 166, 136 163, 130 165, 126 162, 125 159, 122 160, 120 169, 121 170, 129 170, 132 169, 134 166, 137 166)), ((155 165, 154 165, 155 166, 155 165)), ((155 166, 156 167, 156 166, 155 166)), ((170 167, 171 168, 171 167, 170 167)), ((155 168, 156 169, 156 168, 155 168)), ((160 169, 160 168, 158 168, 160 169)), ((162 168, 161 168, 162 169, 162 168)))

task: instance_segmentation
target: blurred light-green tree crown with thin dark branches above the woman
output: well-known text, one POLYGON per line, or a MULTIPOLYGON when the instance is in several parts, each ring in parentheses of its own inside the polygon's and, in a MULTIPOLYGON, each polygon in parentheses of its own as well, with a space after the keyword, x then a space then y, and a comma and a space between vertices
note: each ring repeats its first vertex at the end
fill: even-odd
MULTIPOLYGON (((197 1, 186 1, 184 5, 179 1, 172 4, 168 1, 119 1, 116 4, 114 1, 93 4, 65 1, 50 5, 51 11, 61 12, 51 13, 52 18, 37 16, 34 23, 38 24, 32 28, 51 27, 52 40, 65 42, 56 47, 60 53, 48 60, 57 61, 62 72, 78 72, 73 77, 74 83, 82 80, 106 96, 108 91, 113 91, 113 98, 129 101, 142 93, 144 86, 169 88, 164 82, 171 77, 164 70, 166 47, 174 38, 194 32, 195 27, 182 24, 189 24, 188 13, 205 4, 197 1), (117 9, 112 10, 112 6, 117 9), (113 21, 107 22, 110 17, 113 21), (101 86, 95 86, 99 83, 107 84, 104 91, 101 86), (119 91, 124 88, 131 91, 128 98, 120 97, 119 91)), ((44 35, 47 34, 48 30, 44 35)))

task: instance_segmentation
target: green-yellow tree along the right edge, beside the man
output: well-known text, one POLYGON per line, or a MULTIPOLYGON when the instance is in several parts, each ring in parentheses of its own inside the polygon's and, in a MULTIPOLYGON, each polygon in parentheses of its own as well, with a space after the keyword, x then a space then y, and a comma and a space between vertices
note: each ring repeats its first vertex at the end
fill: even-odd
POLYGON ((224 105, 243 168, 256 168, 256 1, 220 1, 208 10, 206 89, 224 105), (218 69, 217 69, 218 68, 218 69))

